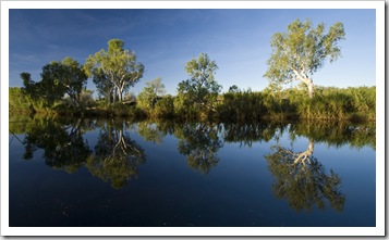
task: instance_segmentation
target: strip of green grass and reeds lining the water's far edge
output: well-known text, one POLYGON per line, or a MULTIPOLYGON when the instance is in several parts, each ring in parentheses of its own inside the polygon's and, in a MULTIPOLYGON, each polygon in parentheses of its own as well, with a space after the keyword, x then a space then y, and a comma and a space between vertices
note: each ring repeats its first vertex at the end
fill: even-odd
POLYGON ((330 119, 375 121, 376 88, 317 87, 316 96, 307 98, 304 90, 236 91, 219 94, 212 109, 186 101, 185 96, 167 96, 148 106, 117 103, 106 105, 93 101, 74 108, 64 102, 42 108, 17 89, 10 89, 10 114, 39 113, 61 116, 102 116, 131 118, 208 119, 221 122, 255 122, 260 119, 330 119))

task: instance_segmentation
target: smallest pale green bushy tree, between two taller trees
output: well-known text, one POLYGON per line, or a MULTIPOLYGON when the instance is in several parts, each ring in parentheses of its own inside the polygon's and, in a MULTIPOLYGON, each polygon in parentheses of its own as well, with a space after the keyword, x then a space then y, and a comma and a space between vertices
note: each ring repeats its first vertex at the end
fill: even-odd
POLYGON ((153 109, 158 100, 166 93, 165 85, 161 84, 161 78, 157 77, 151 81, 146 83, 146 87, 137 97, 137 103, 141 108, 153 109))

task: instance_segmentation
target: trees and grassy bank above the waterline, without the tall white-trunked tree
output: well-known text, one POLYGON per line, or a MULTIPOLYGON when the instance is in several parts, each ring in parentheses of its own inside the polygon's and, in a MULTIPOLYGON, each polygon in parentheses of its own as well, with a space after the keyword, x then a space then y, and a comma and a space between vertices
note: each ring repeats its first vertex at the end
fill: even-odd
POLYGON ((108 50, 89 55, 85 64, 72 58, 42 67, 41 80, 21 73, 24 87, 10 88, 10 112, 42 112, 58 115, 126 116, 178 119, 251 122, 263 118, 374 121, 376 88, 340 89, 315 86, 283 89, 271 83, 264 91, 240 90, 231 86, 221 93, 214 75, 218 70, 206 53, 185 65, 189 78, 179 83, 175 96, 167 96, 160 77, 147 81, 138 96, 130 92, 145 66, 119 39, 108 41, 108 50), (86 89, 88 78, 98 99, 86 89), (312 90, 312 89, 311 89, 312 90))

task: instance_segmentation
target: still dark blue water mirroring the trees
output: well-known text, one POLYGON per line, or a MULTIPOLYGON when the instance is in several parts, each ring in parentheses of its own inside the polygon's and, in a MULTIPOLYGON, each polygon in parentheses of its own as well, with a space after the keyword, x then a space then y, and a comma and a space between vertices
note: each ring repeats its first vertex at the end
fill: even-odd
POLYGON ((10 119, 10 226, 376 226, 375 124, 10 119))

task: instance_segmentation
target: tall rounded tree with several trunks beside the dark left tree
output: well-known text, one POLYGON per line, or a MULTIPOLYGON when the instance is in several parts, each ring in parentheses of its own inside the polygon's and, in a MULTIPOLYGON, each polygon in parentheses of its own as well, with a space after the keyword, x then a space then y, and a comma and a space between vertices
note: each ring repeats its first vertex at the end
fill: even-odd
MULTIPOLYGON (((108 41, 108 51, 101 49, 86 60, 85 70, 89 77, 94 77, 99 92, 106 98, 123 100, 123 92, 133 87, 145 72, 145 66, 136 62, 136 54, 124 50, 124 42, 120 39, 108 41), (107 92, 110 91, 108 96, 107 92)), ((110 102, 110 100, 109 100, 110 102)))

